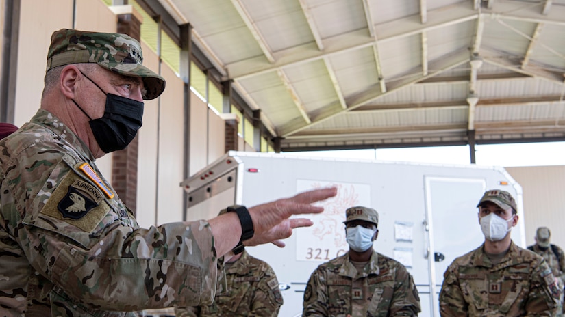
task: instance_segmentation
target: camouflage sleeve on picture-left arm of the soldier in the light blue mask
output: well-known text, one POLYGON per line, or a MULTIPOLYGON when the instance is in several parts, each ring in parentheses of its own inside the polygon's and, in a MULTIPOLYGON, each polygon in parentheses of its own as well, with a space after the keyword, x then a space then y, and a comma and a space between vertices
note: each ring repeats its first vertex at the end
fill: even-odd
POLYGON ((302 316, 328 316, 327 312, 327 288, 325 287, 325 277, 323 272, 316 268, 310 275, 306 290, 304 291, 304 301, 302 316))

